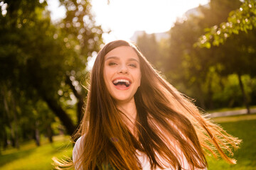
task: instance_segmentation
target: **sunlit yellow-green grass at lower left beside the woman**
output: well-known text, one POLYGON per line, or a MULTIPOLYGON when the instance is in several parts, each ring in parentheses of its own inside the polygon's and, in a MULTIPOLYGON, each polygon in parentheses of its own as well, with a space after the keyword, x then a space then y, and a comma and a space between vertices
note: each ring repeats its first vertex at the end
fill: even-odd
POLYGON ((46 139, 42 140, 40 147, 35 142, 27 142, 21 145, 21 149, 6 149, 0 155, 0 169, 53 169, 52 157, 63 159, 63 156, 71 156, 73 145, 68 137, 54 137, 52 144, 46 139))

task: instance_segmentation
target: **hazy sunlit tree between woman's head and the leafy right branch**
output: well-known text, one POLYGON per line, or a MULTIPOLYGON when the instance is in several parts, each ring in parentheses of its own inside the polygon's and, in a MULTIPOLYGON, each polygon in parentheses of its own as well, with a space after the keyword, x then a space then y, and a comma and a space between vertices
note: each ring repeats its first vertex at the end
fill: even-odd
POLYGON ((199 6, 201 15, 176 21, 170 30, 169 58, 165 74, 183 93, 198 98, 201 108, 213 108, 213 72, 219 72, 215 49, 194 47, 204 29, 225 21, 228 13, 238 8, 240 1, 212 0, 209 6, 199 6))

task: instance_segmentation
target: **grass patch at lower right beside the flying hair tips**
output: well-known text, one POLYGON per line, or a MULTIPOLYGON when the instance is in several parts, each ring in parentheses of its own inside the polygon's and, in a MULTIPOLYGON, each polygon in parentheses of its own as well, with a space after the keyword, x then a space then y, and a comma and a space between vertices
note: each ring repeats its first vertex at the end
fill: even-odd
MULTIPOLYGON (((247 115, 233 116, 233 122, 218 123, 224 130, 231 135, 238 137, 242 140, 240 149, 235 151, 234 158, 237 160, 237 164, 228 164, 224 160, 216 160, 213 157, 208 158, 209 170, 255 170, 256 169, 256 118, 252 120, 238 120, 243 119, 247 115)), ((218 122, 218 120, 216 120, 218 122)))

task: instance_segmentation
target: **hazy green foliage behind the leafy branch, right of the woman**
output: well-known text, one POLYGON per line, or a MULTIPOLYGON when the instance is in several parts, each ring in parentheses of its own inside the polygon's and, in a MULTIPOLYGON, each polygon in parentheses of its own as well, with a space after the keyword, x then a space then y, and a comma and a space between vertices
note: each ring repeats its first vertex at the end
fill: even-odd
POLYGON ((209 6, 197 8, 200 14, 176 21, 170 30, 169 54, 162 62, 164 74, 179 91, 196 98, 196 105, 203 109, 242 106, 248 104, 245 96, 247 101, 253 102, 250 98, 255 98, 255 90, 247 91, 255 85, 245 79, 237 79, 235 84, 235 79, 227 78, 236 74, 238 78, 249 75, 248 81, 255 80, 255 31, 230 35, 218 47, 210 47, 207 42, 210 49, 195 45, 207 28, 226 21, 230 11, 241 4, 241 1, 211 0, 209 6))

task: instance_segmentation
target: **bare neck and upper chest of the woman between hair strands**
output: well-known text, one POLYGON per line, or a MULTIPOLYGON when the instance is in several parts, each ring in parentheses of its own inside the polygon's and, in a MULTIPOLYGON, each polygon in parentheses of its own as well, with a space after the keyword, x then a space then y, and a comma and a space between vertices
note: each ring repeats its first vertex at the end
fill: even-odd
POLYGON ((117 103, 117 108, 124 113, 124 123, 127 125, 129 130, 131 130, 132 134, 134 134, 134 123, 137 116, 134 98, 129 102, 117 103))

